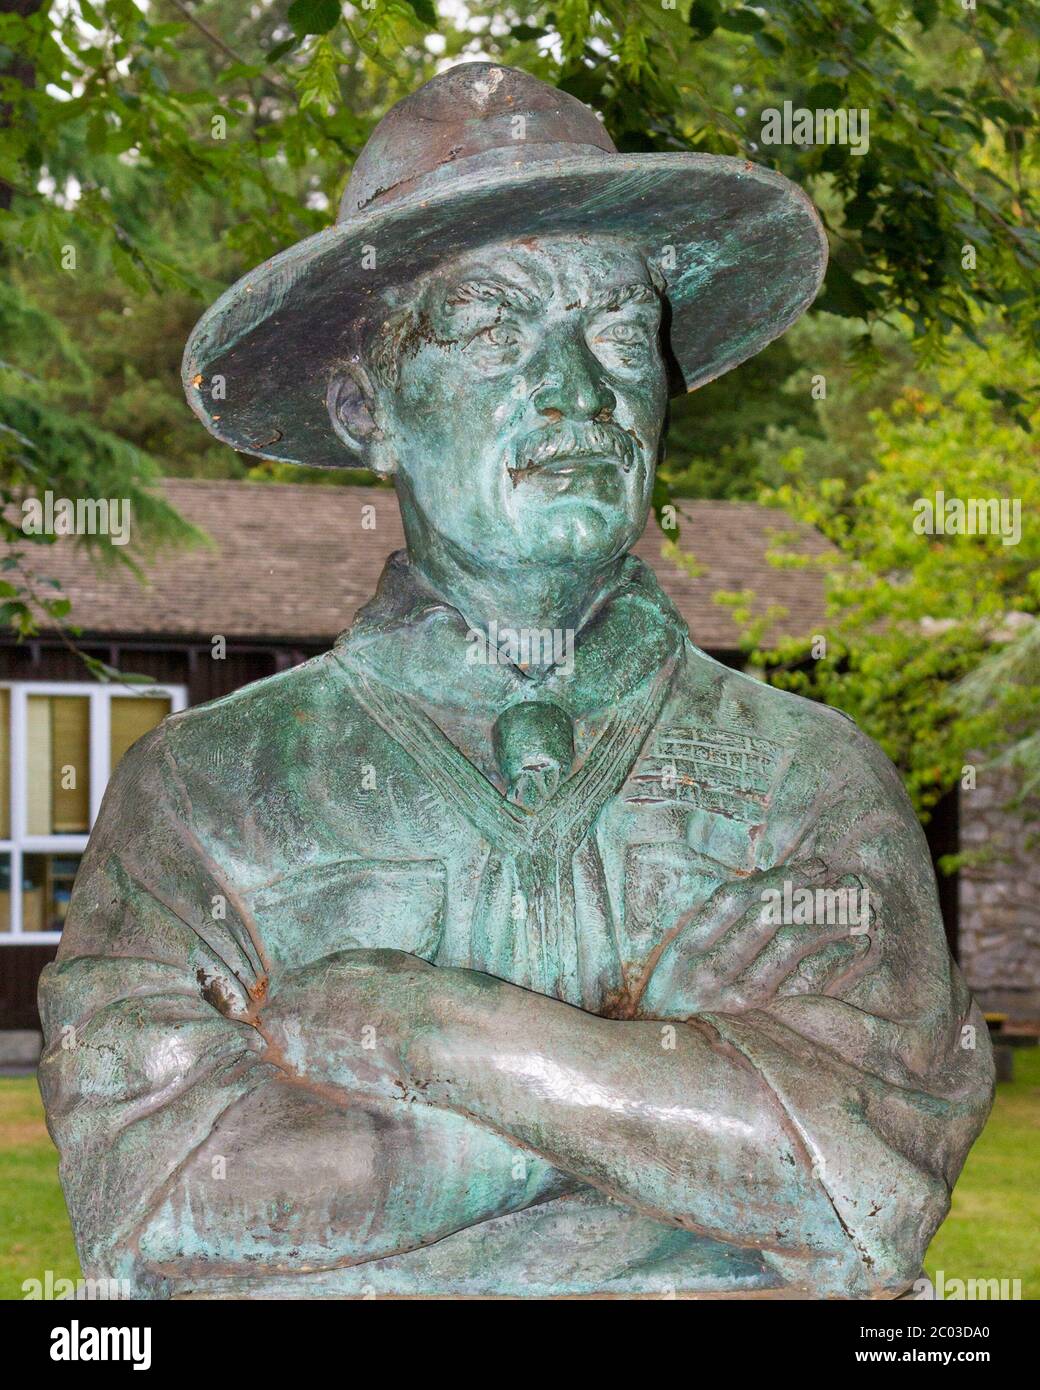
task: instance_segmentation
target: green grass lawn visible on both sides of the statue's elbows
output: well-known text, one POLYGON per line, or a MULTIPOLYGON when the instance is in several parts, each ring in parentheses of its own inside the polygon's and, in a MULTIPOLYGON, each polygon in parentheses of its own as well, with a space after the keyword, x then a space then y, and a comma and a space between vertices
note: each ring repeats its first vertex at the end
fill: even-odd
MULTIPOLYGON (((1040 1298, 1040 1048, 1015 1056, 925 1262, 934 1279, 1021 1279, 1040 1298)), ((0 1298, 24 1279, 75 1279, 79 1265, 33 1077, 0 1077, 0 1298)))

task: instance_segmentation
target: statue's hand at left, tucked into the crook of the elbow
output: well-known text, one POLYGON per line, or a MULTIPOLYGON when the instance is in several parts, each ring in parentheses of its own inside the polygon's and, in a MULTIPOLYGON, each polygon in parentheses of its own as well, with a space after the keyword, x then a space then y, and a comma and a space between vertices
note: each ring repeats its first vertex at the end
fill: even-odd
POLYGON ((291 972, 261 1011, 267 1059, 320 1084, 407 1095, 402 1056, 435 1023, 438 973, 403 951, 341 951, 291 972))

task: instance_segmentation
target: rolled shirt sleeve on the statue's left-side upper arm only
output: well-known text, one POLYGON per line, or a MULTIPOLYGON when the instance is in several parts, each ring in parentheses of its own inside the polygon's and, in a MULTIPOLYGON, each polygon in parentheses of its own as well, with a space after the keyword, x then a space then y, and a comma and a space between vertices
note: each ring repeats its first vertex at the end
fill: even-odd
POLYGON ((111 1277, 157 1194, 274 1074, 250 1022, 260 951, 181 796, 156 730, 110 781, 40 979, 47 1125, 83 1268, 111 1277))

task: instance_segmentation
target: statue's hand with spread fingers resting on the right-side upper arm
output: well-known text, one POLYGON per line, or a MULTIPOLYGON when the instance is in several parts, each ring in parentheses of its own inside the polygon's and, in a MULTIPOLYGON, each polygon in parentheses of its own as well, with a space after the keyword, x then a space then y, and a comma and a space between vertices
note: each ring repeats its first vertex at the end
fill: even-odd
POLYGON ((640 1001, 652 1017, 741 1013, 784 994, 823 994, 870 944, 870 923, 786 922, 784 892, 863 888, 826 865, 784 865, 723 884, 684 917, 640 1001))

